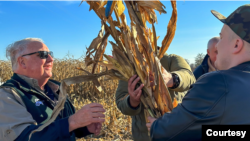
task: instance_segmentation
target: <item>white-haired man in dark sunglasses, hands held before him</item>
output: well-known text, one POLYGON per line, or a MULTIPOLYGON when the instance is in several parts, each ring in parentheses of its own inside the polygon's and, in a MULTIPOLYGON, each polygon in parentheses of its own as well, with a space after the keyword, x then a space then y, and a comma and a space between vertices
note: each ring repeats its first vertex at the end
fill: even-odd
MULTIPOLYGON (((57 104, 60 83, 52 76, 53 53, 41 39, 26 38, 6 49, 13 76, 0 87, 0 140, 27 141, 30 133, 51 117, 57 104)), ((79 111, 69 99, 56 120, 30 141, 75 141, 99 134, 105 110, 97 103, 79 111)))

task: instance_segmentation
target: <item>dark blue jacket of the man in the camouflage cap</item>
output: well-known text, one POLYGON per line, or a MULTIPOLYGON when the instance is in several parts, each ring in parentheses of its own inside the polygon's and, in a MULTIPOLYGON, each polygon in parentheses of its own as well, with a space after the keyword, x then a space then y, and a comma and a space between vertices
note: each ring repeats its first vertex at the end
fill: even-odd
POLYGON ((202 125, 250 125, 249 80, 250 61, 204 74, 182 103, 153 122, 152 141, 202 140, 202 125))

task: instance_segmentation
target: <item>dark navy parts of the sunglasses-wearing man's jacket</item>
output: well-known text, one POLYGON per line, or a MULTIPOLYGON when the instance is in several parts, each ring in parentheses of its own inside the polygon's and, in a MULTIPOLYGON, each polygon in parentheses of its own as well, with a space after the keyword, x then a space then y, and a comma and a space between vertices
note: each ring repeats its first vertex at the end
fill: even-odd
MULTIPOLYGON (((59 82, 49 80, 54 84, 60 85, 59 82)), ((33 89, 28 83, 22 80, 17 74, 14 74, 10 80, 2 85, 2 87, 10 87, 16 91, 26 105, 27 111, 32 115, 37 125, 28 126, 18 136, 15 141, 28 141, 30 133, 39 126, 46 123, 50 119, 52 110, 55 105, 51 103, 47 97, 44 97, 39 91, 33 89), (43 105, 36 106, 34 99, 40 99, 43 105)), ((59 91, 57 92, 59 94, 59 91)), ((87 127, 82 127, 69 132, 69 116, 75 113, 75 108, 69 99, 64 104, 64 109, 61 111, 56 120, 40 132, 35 132, 30 141, 75 141, 76 137, 81 138, 91 134, 87 127)))

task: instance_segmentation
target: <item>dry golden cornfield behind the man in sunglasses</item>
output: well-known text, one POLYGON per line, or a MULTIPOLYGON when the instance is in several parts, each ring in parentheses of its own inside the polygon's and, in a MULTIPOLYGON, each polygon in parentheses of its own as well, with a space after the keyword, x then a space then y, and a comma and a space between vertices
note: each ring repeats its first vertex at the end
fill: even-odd
MULTIPOLYGON (((85 73, 75 69, 75 67, 85 68, 82 59, 55 59, 52 79, 61 81, 65 78, 84 75, 85 73)), ((91 67, 91 66, 90 66, 91 67)), ((87 70, 90 70, 90 67, 87 70)), ((0 60, 0 78, 6 81, 12 76, 10 62, 0 60)), ((132 140, 131 122, 129 116, 123 115, 116 107, 115 91, 118 85, 117 80, 106 80, 100 78, 103 91, 98 92, 92 82, 74 84, 68 87, 67 93, 73 102, 76 110, 89 103, 100 103, 106 109, 106 121, 103 124, 102 131, 98 136, 89 136, 77 141, 102 141, 102 140, 132 140)))

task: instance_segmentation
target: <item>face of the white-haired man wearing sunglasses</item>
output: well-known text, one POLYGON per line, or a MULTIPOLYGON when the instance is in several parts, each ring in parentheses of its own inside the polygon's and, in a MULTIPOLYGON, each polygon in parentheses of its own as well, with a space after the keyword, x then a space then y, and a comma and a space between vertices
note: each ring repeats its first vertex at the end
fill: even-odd
MULTIPOLYGON (((49 51, 48 47, 40 42, 31 42, 24 54, 37 51, 49 51)), ((24 56, 26 76, 37 80, 50 78, 52 76, 53 58, 48 55, 47 59, 41 59, 39 53, 24 56)))

